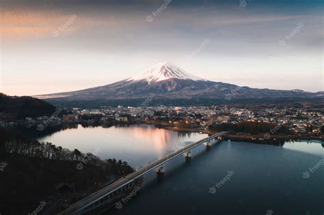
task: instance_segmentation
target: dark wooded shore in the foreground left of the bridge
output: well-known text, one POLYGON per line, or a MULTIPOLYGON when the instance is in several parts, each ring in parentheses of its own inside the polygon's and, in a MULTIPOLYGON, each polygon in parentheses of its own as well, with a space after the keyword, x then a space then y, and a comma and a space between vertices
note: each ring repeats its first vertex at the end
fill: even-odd
POLYGON ((3 214, 28 214, 40 201, 48 202, 44 210, 62 209, 133 172, 122 160, 100 160, 95 154, 40 143, 16 131, 0 129, 0 137, 0 162, 8 164, 0 172, 3 214))

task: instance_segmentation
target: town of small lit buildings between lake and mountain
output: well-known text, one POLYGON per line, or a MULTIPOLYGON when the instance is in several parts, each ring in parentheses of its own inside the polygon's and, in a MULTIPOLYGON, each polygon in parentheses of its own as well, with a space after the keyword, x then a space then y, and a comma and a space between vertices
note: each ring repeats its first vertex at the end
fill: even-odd
MULTIPOLYGON (((323 135, 324 113, 321 106, 238 107, 230 105, 212 106, 117 106, 100 109, 55 109, 51 116, 26 117, 8 121, 0 113, 0 127, 25 126, 44 130, 60 124, 82 124, 83 126, 116 126, 123 124, 154 124, 172 130, 187 130, 210 133, 212 128, 223 125, 237 125, 242 122, 271 124, 276 132, 279 127, 296 137, 323 135), (322 133, 322 134, 321 134, 322 133)), ((217 130, 218 131, 218 130, 217 130)), ((255 130, 258 132, 258 130, 255 130)), ((241 135, 242 132, 232 134, 241 135)), ((248 133, 250 134, 250 133, 248 133)))

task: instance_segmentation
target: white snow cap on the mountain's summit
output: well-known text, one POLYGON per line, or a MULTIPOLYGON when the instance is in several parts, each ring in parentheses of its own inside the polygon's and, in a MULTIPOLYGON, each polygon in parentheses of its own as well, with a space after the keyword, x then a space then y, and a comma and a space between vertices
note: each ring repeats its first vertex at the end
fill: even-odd
POLYGON ((133 76, 129 78, 129 81, 140 81, 146 80, 150 84, 151 82, 158 82, 164 81, 170 78, 178 78, 183 80, 192 80, 192 81, 206 81, 203 78, 198 78, 177 66, 174 66, 172 63, 169 62, 161 62, 157 63, 156 65, 148 68, 142 74, 137 76, 133 76))

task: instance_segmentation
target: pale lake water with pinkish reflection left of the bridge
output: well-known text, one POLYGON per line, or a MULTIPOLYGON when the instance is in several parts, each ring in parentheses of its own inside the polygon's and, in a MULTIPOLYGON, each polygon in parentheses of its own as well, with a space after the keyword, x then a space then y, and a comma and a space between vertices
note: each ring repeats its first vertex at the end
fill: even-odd
POLYGON ((39 137, 39 141, 51 142, 68 149, 94 152, 101 159, 116 158, 129 162, 135 169, 161 158, 167 152, 180 149, 188 143, 207 137, 197 132, 175 132, 151 125, 67 126, 39 137))

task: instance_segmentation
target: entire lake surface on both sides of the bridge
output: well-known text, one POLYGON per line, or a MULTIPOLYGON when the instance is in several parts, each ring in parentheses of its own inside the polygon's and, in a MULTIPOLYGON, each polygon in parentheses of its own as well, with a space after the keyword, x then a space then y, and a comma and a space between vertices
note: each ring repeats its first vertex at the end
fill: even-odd
MULTIPOLYGON (((204 137, 183 136, 152 126, 79 127, 57 132, 44 141, 83 152, 100 147, 101 158, 122 158, 138 166, 181 147, 178 142, 204 137)), ((163 177, 157 177, 154 171, 148 173, 135 197, 122 209, 113 208, 104 214, 270 214, 268 210, 273 215, 323 214, 321 144, 301 141, 278 147, 224 141, 209 150, 201 145, 191 150, 191 162, 179 156, 163 166, 163 177), (234 172, 230 180, 216 187, 215 194, 208 192, 228 171, 234 172)))

